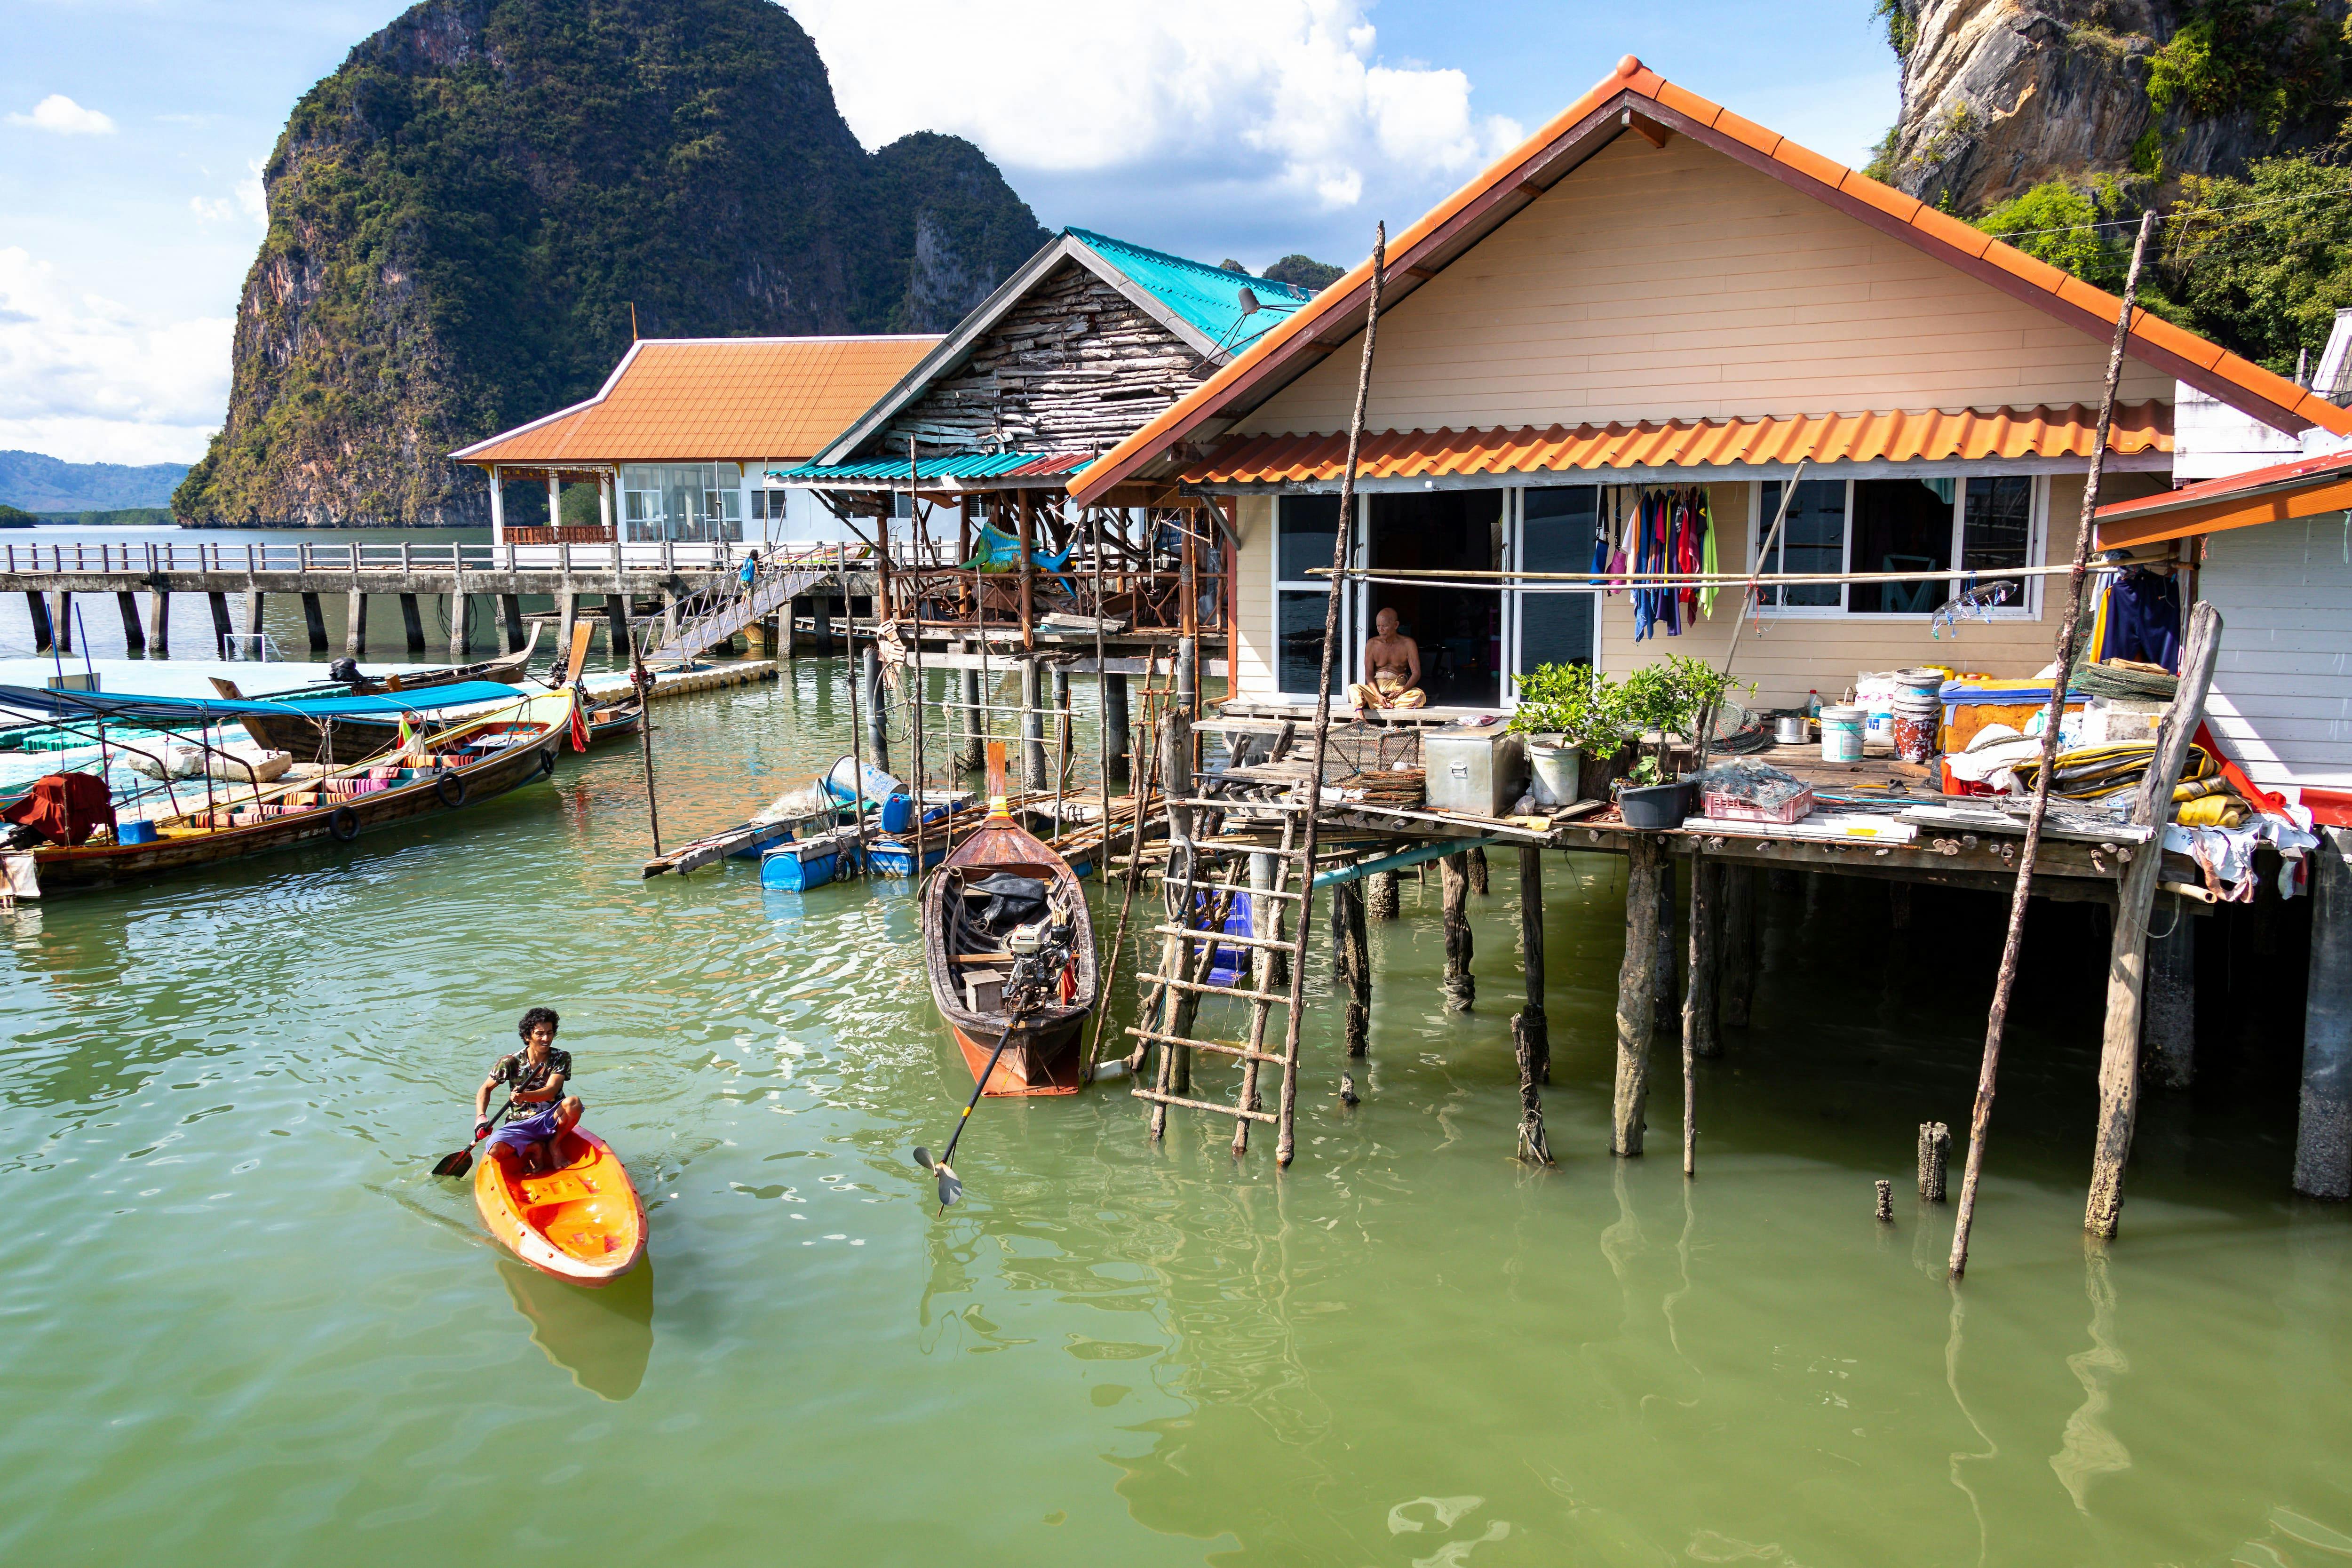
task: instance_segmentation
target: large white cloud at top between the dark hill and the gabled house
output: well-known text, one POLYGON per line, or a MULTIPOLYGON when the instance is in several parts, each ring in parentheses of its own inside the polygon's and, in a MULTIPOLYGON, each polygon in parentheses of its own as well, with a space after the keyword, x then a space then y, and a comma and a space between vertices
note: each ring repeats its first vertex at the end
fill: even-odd
POLYGON ((790 12, 866 146, 953 132, 1016 186, 1021 172, 1061 183, 1134 169, 1331 212, 1367 190, 1458 181, 1519 136, 1470 113, 1461 71, 1381 63, 1359 0, 790 0, 790 12))

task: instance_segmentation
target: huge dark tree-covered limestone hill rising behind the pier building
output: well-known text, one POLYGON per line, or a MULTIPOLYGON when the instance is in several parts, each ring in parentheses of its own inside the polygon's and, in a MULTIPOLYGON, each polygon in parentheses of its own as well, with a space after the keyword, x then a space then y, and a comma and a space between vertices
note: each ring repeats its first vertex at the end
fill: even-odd
POLYGON ((868 155, 769 0, 426 0, 263 172, 207 522, 487 522, 445 454, 642 336, 941 331, 1047 233, 955 136, 868 155))

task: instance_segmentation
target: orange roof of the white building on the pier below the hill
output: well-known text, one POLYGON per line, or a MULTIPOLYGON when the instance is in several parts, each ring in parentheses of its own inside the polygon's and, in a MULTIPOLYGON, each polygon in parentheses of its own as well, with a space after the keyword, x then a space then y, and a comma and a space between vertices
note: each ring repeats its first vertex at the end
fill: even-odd
POLYGON ((461 447, 466 463, 809 458, 891 390, 936 336, 644 339, 588 402, 461 447))

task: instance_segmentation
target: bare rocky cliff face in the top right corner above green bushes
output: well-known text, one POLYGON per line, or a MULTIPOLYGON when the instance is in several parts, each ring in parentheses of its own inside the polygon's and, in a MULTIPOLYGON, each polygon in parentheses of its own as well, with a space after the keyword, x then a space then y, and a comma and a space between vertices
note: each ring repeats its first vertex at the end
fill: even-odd
POLYGON ((1882 174, 1962 216, 2051 179, 2237 174, 2326 141, 2340 113, 2328 101, 2345 0, 1891 0, 1886 12, 1903 120, 1882 174))

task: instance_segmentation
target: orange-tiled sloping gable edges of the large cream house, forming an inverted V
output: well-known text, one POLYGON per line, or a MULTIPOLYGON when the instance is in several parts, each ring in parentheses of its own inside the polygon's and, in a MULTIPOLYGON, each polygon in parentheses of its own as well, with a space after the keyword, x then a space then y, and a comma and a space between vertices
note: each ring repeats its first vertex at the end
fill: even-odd
MULTIPOLYGON (((1498 228, 1519 207, 1550 188, 1552 181, 1545 174, 1562 165, 1562 176, 1566 169, 1573 169, 1578 153, 1595 139, 1613 136, 1625 113, 1637 113, 1656 127, 1682 132, 1726 158, 1757 167, 1882 233, 1917 244, 1952 268, 2079 327, 2098 341, 2107 341, 2114 334, 2114 317, 2122 310, 2122 301, 2103 289, 2093 289, 2049 263, 2034 261, 2025 252, 1945 212, 1936 212, 1917 197, 1882 186, 1867 174, 1802 148, 1778 132, 1743 120, 1719 103, 1675 87, 1632 54, 1618 61, 1611 75, 1602 78, 1550 125, 1512 153, 1505 153, 1484 174, 1432 207, 1418 223, 1390 242, 1385 273, 1390 301, 1402 299, 1423 277, 1435 275, 1437 268, 1470 244, 1477 244, 1477 240, 1498 228)), ((1082 503, 1094 501, 1112 484, 1136 477, 1145 465, 1160 461, 1188 437, 1202 435, 1204 423, 1237 418, 1242 411, 1265 402, 1265 397, 1315 364, 1319 357, 1317 348, 1329 353, 1329 348, 1362 329, 1369 282, 1371 259, 1367 256, 1355 270, 1315 296, 1315 303, 1305 310, 1279 322, 1247 353, 1218 369, 1216 376, 1160 414, 1160 418, 1096 458, 1091 468, 1070 482, 1070 496, 1082 503)), ((2352 414, 2345 409, 2147 310, 2133 313, 2131 355, 2279 428, 2300 430, 2319 425, 2336 435, 2352 435, 2352 414)))

